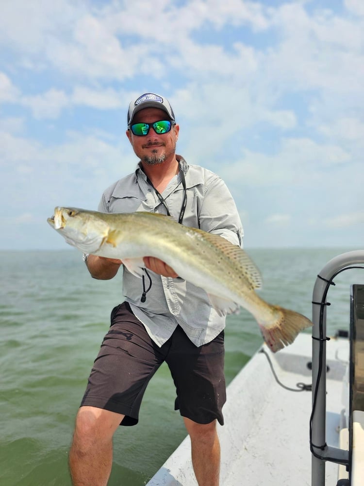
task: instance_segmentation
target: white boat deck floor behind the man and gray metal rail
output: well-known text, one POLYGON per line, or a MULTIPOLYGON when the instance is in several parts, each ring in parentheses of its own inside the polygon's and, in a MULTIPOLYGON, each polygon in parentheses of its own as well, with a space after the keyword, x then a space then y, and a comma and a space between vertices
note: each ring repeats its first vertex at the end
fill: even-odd
MULTIPOLYGON (((288 387, 311 384, 312 338, 300 334, 295 343, 268 353, 279 380, 288 387)), ((339 447, 341 412, 349 342, 334 338, 327 344, 326 441, 339 447)), ((225 425, 219 426, 220 484, 224 486, 311 485, 309 420, 312 392, 293 392, 275 380, 264 353, 256 353, 228 387, 225 425)), ((347 477, 345 475, 340 477, 347 477)), ((326 463, 326 485, 336 486, 338 466, 326 463)), ((147 486, 197 486, 190 462, 187 437, 147 486)))

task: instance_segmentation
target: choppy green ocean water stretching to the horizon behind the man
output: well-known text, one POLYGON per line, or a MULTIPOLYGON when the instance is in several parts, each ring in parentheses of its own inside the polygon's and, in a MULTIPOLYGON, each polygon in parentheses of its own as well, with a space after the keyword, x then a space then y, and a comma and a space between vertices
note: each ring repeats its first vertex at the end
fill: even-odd
MULTIPOLYGON (((249 250, 263 275, 267 301, 311 317, 316 275, 350 250, 249 250)), ((122 301, 121 276, 92 279, 76 250, 0 252, 0 485, 69 486, 67 460, 74 417, 111 309, 122 301)), ((351 283, 363 270, 338 275, 328 300, 328 333, 349 326, 351 283)), ((310 331, 307 331, 310 332, 310 331)), ((258 326, 241 310, 228 316, 227 382, 261 346, 258 326)), ((145 485, 185 436, 173 410, 175 390, 162 366, 135 427, 114 439, 109 485, 145 485)))

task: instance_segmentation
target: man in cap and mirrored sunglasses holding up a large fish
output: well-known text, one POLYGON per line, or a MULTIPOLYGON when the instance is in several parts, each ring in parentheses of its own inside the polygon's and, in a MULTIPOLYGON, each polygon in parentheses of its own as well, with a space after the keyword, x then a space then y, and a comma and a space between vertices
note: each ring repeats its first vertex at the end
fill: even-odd
MULTIPOLYGON (((230 192, 217 175, 176 155, 179 130, 165 98, 147 93, 132 102, 126 135, 140 162, 104 192, 99 210, 170 214, 240 245, 241 222, 230 192)), ((99 279, 113 278, 122 266, 121 260, 95 255, 84 260, 99 279)), ((107 484, 113 434, 119 425, 138 422, 146 386, 165 361, 176 385, 175 409, 191 438, 198 484, 217 486, 225 319, 202 289, 178 278, 163 261, 146 256, 144 263, 143 279, 123 267, 125 302, 111 314, 76 418, 69 457, 73 484, 107 484)))

